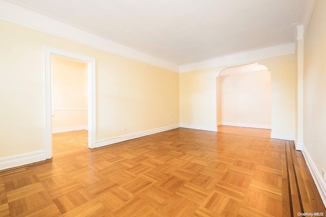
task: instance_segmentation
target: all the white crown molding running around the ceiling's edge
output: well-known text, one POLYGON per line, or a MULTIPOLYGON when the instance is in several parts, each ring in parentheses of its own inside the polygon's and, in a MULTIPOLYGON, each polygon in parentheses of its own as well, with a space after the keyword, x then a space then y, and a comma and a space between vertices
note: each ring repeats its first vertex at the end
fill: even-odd
MULTIPOLYGON (((309 9, 306 9, 302 16, 304 17, 302 20, 302 22, 304 22, 304 33, 313 12, 315 2, 315 0, 309 2, 309 9)), ((286 55, 294 53, 295 49, 294 43, 285 43, 178 66, 177 64, 171 63, 165 59, 161 59, 138 49, 97 35, 89 30, 80 28, 55 17, 23 7, 15 2, 0 0, 0 19, 179 73, 286 55)))

